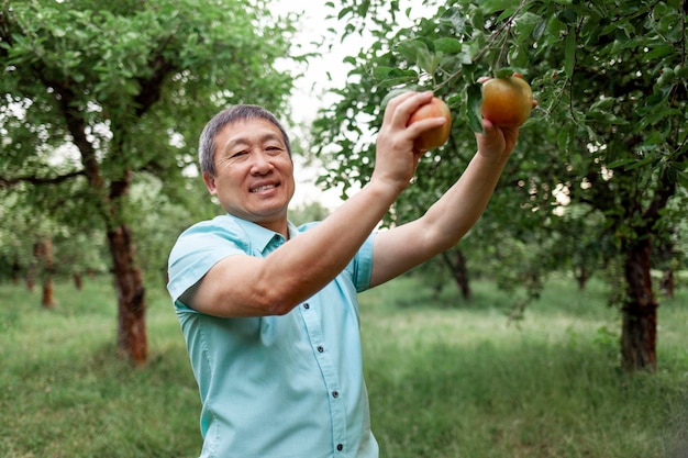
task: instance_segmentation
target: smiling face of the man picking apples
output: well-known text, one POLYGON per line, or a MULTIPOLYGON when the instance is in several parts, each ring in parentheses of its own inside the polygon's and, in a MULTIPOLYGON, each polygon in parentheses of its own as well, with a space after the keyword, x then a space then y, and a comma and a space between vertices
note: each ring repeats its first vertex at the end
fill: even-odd
POLYGON ((215 176, 203 174, 203 180, 228 213, 286 228, 293 163, 277 126, 259 118, 228 124, 215 137, 214 164, 215 176))

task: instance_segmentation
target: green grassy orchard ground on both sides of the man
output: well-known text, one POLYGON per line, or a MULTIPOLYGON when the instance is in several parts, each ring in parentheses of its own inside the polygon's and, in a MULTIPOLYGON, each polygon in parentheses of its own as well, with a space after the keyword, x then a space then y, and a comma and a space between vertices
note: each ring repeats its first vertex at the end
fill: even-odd
MULTIPOLYGON (((362 294, 373 427, 386 458, 685 458, 688 294, 663 299, 658 371, 618 370, 619 317, 599 284, 557 280, 509 323, 510 298, 470 304, 415 279, 362 294)), ((0 458, 195 457, 199 400, 165 291, 148 290, 151 362, 114 351, 109 279, 76 291, 0 286, 0 458)), ((308 457, 304 457, 308 458, 308 457)))

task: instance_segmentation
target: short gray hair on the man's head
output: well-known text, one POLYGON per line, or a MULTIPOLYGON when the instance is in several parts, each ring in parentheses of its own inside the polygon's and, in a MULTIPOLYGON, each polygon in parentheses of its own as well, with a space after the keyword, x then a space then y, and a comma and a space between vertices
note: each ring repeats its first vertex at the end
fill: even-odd
POLYGON ((198 145, 198 159, 201 165, 201 174, 209 172, 213 177, 215 175, 215 136, 220 133, 220 131, 222 131, 228 124, 253 119, 264 119, 275 124, 275 126, 279 129, 285 144, 287 145, 289 157, 291 157, 289 135, 287 135, 285 127, 281 126, 279 121, 277 121, 277 118, 263 107, 240 104, 222 110, 215 114, 208 122, 208 124, 206 124, 203 132, 201 132, 198 145))

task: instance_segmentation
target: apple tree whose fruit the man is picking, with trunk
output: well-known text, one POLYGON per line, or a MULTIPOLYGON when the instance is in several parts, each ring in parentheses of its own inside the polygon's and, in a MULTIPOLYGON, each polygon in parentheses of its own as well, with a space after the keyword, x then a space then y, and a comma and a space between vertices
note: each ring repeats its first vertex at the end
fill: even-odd
POLYGON ((544 247, 541 262, 529 262, 524 271, 535 284, 556 268, 565 246, 579 269, 592 264, 588 272, 618 260, 621 365, 653 371, 653 242, 681 221, 688 183, 688 2, 426 2, 424 15, 407 27, 395 25, 412 11, 399 2, 343 0, 337 8, 340 18, 352 20, 351 33, 363 27, 374 40, 346 58, 349 82, 315 123, 318 138, 329 145, 319 154, 333 164, 322 181, 365 181, 374 144, 363 134, 365 126, 379 126, 386 98, 397 90, 433 89, 455 114, 452 138, 423 158, 387 222, 418 216, 473 154, 471 131, 480 130, 478 77, 522 72, 539 108, 522 126, 499 189, 467 244, 500 249, 501 241, 517 239, 544 247), (553 236, 570 242, 574 221, 587 238, 552 243, 553 236), (596 239, 604 246, 603 259, 584 256, 596 249, 596 239))

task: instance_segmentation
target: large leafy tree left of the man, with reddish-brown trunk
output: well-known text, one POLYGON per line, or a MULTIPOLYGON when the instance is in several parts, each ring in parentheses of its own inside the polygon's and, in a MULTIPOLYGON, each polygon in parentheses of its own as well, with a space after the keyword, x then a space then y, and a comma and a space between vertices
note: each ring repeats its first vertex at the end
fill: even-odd
POLYGON ((251 101, 288 114, 292 77, 276 63, 289 56, 292 21, 273 18, 266 4, 2 2, 0 187, 30 187, 36 203, 58 196, 65 223, 102 228, 118 348, 138 364, 147 339, 132 185, 158 177, 159 192, 184 202, 184 174, 214 112, 251 101))

